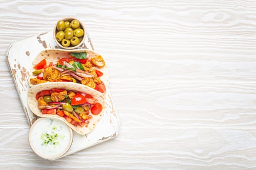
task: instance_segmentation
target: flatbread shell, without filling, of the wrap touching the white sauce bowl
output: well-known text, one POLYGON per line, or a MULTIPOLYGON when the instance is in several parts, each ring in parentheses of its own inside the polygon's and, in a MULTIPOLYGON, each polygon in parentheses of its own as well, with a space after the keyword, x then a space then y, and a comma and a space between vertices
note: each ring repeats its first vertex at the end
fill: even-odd
POLYGON ((74 83, 64 83, 64 82, 52 82, 52 83, 43 83, 39 85, 34 85, 31 87, 28 91, 28 105, 31 111, 39 116, 39 117, 47 117, 47 118, 57 118, 59 120, 64 121, 70 128, 72 128, 74 131, 79 133, 80 135, 85 135, 93 131, 93 129, 98 124, 99 120, 102 117, 102 114, 105 112, 105 98, 104 95, 92 88, 89 88, 85 85, 80 84, 74 84, 74 83), (85 126, 80 127, 73 126, 71 123, 69 123, 66 119, 63 117, 60 117, 59 115, 49 115, 49 114, 42 114, 41 110, 38 107, 38 100, 36 99, 36 95, 38 92, 42 90, 51 90, 51 89, 63 89, 67 91, 74 91, 90 94, 93 98, 97 99, 97 102, 102 105, 102 111, 98 115, 92 115, 91 109, 89 110, 89 114, 92 115, 92 118, 89 119, 89 123, 85 124, 85 126))

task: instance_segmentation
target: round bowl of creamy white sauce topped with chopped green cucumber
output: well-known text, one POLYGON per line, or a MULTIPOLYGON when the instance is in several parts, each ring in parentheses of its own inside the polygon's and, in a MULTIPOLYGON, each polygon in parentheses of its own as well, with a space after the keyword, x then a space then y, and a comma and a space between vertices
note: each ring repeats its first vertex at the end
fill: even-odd
POLYGON ((72 141, 72 129, 55 118, 40 118, 33 123, 29 131, 31 149, 48 160, 55 160, 65 154, 72 141))

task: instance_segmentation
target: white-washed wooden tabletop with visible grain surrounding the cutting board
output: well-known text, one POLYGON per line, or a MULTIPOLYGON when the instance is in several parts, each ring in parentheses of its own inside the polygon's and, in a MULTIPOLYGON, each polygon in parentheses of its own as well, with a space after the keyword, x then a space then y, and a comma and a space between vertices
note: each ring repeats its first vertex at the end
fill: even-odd
POLYGON ((255 170, 256 1, 0 1, 0 170, 255 170), (110 71, 120 135, 56 161, 29 147, 10 43, 78 17, 110 71))

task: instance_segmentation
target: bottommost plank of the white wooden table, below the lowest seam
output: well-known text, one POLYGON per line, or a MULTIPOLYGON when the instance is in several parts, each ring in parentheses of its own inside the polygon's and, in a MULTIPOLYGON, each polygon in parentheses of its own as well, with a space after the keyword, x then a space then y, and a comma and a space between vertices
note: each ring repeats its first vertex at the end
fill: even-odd
POLYGON ((4 170, 21 166, 32 170, 256 168, 256 131, 252 129, 122 129, 118 138, 56 161, 40 159, 32 152, 27 142, 28 128, 2 128, 0 132, 3 131, 6 135, 0 137, 0 165, 4 170))

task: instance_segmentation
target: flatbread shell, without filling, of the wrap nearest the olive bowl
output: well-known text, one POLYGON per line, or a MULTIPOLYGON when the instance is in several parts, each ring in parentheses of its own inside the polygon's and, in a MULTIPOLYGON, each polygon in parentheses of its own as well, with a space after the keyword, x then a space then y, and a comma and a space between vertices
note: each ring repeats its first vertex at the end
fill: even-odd
MULTIPOLYGON (((89 57, 90 60, 92 58, 99 56, 99 54, 96 51, 88 50, 88 49, 76 49, 76 50, 51 49, 51 50, 41 51, 36 56, 35 60, 32 62, 32 68, 30 69, 30 79, 35 79, 37 77, 36 74, 33 74, 33 71, 36 70, 34 68, 34 66, 36 66, 40 61, 45 59, 47 66, 49 66, 49 64, 51 62, 53 65, 56 65, 57 62, 61 58, 69 58, 70 52, 74 52, 74 53, 86 52, 87 58, 89 57)), ((60 68, 60 69, 62 69, 62 68, 60 68)), ((99 79, 101 80, 101 82, 104 83, 105 87, 107 88, 108 84, 109 84, 109 72, 108 72, 107 66, 105 65, 104 67, 100 67, 100 68, 96 67, 96 69, 103 73, 103 75, 101 77, 99 77, 99 79)), ((56 80, 54 80, 54 81, 56 81, 56 80)), ((42 83, 45 83, 45 82, 49 82, 49 81, 42 81, 42 83)), ((58 82, 59 82, 59 80, 58 80, 58 82)), ((80 81, 77 80, 77 83, 80 84, 80 81)), ((30 86, 34 86, 35 84, 38 84, 38 83, 31 83, 31 80, 29 81, 30 86)), ((97 83, 95 83, 95 85, 97 85, 97 83)))

